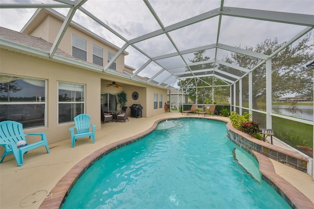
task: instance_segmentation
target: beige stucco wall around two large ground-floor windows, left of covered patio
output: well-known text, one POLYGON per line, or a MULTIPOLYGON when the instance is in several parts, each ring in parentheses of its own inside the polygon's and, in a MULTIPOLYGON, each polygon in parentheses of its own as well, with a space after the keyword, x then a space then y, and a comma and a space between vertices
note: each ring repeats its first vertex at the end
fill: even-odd
POLYGON ((74 126, 74 123, 57 124, 57 81, 85 84, 86 114, 91 116, 91 123, 97 126, 96 130, 101 129, 99 110, 101 79, 98 73, 2 49, 0 54, 1 74, 47 80, 47 127, 26 129, 26 133, 47 132, 49 143, 70 138, 69 128, 74 126))

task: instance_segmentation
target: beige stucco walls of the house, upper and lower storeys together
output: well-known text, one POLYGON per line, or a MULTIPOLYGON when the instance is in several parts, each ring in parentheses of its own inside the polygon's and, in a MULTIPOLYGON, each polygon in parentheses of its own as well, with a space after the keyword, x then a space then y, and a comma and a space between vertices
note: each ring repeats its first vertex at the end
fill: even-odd
MULTIPOLYGON (((38 15, 25 31, 27 31, 29 35, 40 37, 53 43, 62 22, 62 20, 47 15, 47 13, 44 12, 38 15)), ((70 55, 72 55, 72 34, 87 40, 87 62, 92 63, 93 44, 104 48, 104 65, 107 63, 108 51, 112 53, 118 52, 116 48, 107 45, 99 38, 95 38, 85 31, 70 25, 58 46, 59 49, 70 55)), ((128 100, 126 106, 131 106, 132 104, 141 104, 143 106, 142 117, 151 117, 164 112, 163 107, 159 108, 159 104, 158 108, 154 109, 154 94, 162 94, 162 102, 165 103, 167 98, 167 91, 165 89, 150 86, 128 78, 121 78, 104 72, 90 71, 67 64, 60 64, 53 60, 36 58, 18 52, 0 49, 0 55, 1 74, 47 80, 46 127, 26 129, 25 132, 47 132, 48 143, 50 144, 69 139, 69 128, 74 126, 73 122, 58 125, 58 81, 85 85, 85 113, 91 116, 91 123, 97 126, 96 131, 101 129, 100 104, 101 94, 103 93, 116 95, 124 91, 127 94, 128 100), (106 87, 106 84, 112 81, 123 85, 123 87, 106 87), (133 100, 131 97, 134 91, 139 93, 138 100, 133 100)), ((125 53, 120 55, 116 60, 116 71, 123 72, 123 70, 127 70, 132 73, 133 69, 124 64, 124 55, 125 53)), ((120 108, 119 106, 118 104, 118 108, 120 108)))

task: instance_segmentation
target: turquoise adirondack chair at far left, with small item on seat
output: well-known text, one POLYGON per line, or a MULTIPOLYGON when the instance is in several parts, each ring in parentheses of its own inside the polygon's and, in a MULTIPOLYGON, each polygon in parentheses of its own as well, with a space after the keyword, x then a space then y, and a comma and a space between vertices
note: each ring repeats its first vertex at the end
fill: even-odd
POLYGON ((0 145, 4 147, 4 153, 1 157, 0 163, 6 155, 13 154, 18 166, 23 165, 23 155, 29 150, 46 146, 47 153, 50 153, 46 133, 28 133, 23 132, 23 124, 16 121, 2 121, 0 122, 0 145), (27 144, 23 147, 17 147, 17 142, 26 141, 26 135, 39 135, 41 140, 27 144))

